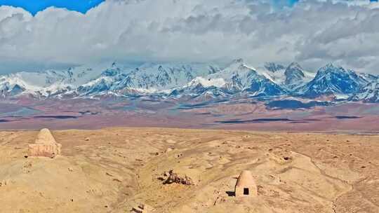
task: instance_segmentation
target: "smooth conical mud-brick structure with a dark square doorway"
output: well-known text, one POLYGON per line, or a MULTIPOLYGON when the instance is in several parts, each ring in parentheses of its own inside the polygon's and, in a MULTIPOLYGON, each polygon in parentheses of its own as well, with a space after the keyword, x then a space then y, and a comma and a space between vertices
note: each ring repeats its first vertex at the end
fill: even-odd
POLYGON ((234 193, 236 197, 258 195, 258 188, 250 171, 244 170, 239 174, 234 193))

